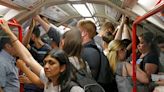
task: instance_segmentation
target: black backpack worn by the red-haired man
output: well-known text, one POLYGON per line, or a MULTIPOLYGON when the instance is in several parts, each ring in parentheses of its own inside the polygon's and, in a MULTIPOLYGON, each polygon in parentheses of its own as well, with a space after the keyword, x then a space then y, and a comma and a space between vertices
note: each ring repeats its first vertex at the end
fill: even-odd
POLYGON ((112 69, 109 65, 107 57, 104 55, 103 51, 99 49, 96 45, 87 45, 87 48, 94 48, 100 54, 100 66, 99 73, 96 81, 106 90, 110 92, 118 92, 117 84, 115 80, 115 75, 112 73, 112 69))

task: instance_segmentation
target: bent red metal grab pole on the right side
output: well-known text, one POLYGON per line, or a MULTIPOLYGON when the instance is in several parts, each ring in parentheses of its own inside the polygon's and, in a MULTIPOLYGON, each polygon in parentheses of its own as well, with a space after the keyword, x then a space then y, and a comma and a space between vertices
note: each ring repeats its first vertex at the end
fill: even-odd
POLYGON ((137 19, 133 22, 132 25, 132 64, 133 64, 133 92, 137 92, 137 85, 136 85, 136 26, 141 21, 145 20, 146 18, 160 12, 164 9, 164 3, 158 4, 153 10, 149 11, 148 13, 144 14, 143 16, 137 17, 137 19))

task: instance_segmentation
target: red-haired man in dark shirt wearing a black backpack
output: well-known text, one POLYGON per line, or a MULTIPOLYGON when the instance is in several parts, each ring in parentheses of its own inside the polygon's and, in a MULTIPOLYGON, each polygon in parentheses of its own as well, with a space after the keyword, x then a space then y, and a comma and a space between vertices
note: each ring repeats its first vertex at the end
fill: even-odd
POLYGON ((102 49, 100 49, 95 41, 96 25, 89 20, 80 20, 77 24, 81 32, 83 50, 81 57, 84 61, 87 61, 91 69, 93 78, 109 92, 112 78, 108 60, 104 55, 102 49), (108 76, 108 77, 107 77, 108 76))

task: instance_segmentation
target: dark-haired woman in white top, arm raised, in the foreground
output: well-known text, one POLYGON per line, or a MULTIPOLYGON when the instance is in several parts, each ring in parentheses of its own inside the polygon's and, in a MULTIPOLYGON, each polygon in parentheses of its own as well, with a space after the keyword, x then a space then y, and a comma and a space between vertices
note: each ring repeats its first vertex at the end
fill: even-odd
MULTIPOLYGON (((0 25, 4 32, 11 38, 12 45, 17 51, 19 58, 21 58, 31 70, 40 77, 44 84, 44 92, 62 92, 62 90, 67 87, 69 76, 71 74, 67 55, 62 50, 53 49, 46 55, 44 59, 45 64, 44 67, 42 67, 11 32, 7 22, 2 20, 0 25)), ((34 76, 36 80, 33 80, 40 82, 40 79, 37 78, 37 76, 34 76)), ((84 90, 80 86, 73 86, 70 92, 84 92, 84 90)))

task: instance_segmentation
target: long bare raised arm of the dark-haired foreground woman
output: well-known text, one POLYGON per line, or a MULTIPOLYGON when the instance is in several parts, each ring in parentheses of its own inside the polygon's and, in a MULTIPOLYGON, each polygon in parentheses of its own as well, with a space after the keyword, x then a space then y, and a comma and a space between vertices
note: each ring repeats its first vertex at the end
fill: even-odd
POLYGON ((13 47, 17 52, 17 56, 21 58, 32 69, 32 71, 39 76, 41 69, 43 68, 30 54, 27 48, 18 40, 18 38, 11 32, 7 22, 2 20, 0 24, 3 31, 10 37, 13 47))

